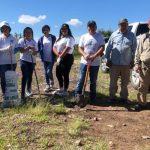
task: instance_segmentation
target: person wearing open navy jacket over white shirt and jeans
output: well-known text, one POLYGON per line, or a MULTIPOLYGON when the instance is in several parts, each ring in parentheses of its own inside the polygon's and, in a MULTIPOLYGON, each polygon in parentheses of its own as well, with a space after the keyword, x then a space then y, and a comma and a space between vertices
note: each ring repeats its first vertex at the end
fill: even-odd
POLYGON ((46 88, 44 91, 49 92, 54 85, 53 66, 55 54, 53 52, 53 45, 56 41, 56 37, 50 34, 50 27, 48 25, 42 27, 42 32, 44 35, 38 40, 38 50, 45 71, 46 88))

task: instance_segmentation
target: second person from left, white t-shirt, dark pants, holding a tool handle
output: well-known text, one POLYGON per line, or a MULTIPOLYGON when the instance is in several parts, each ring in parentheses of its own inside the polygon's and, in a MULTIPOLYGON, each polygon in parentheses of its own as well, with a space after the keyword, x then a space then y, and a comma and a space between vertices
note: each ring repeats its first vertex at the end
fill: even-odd
POLYGON ((21 83, 21 98, 25 102, 25 88, 26 96, 31 96, 31 83, 32 74, 36 64, 35 55, 38 52, 36 41, 33 39, 33 30, 30 27, 26 27, 23 31, 23 38, 18 41, 18 47, 20 50, 20 66, 22 71, 22 83, 21 83))

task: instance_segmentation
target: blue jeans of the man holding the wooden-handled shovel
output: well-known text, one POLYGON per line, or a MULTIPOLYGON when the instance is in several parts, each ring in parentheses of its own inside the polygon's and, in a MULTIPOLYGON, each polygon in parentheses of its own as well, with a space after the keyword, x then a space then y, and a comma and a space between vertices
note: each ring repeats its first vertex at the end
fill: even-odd
MULTIPOLYGON (((85 75, 86 75, 87 65, 80 64, 80 74, 77 86, 75 89, 75 95, 82 94, 82 89, 84 85, 85 75)), ((90 77, 90 99, 92 101, 96 100, 96 82, 97 75, 99 71, 99 66, 90 66, 89 77, 90 77)))

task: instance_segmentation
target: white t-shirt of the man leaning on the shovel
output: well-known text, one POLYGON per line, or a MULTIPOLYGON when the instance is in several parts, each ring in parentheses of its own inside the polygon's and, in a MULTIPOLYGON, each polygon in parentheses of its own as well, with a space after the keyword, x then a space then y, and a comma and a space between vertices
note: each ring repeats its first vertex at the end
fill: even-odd
MULTIPOLYGON (((105 41, 103 36, 100 33, 95 33, 91 35, 86 33, 81 36, 79 41, 79 47, 84 48, 84 52, 87 54, 94 54, 97 50, 99 50, 100 46, 105 45, 105 41)), ((81 57, 81 63, 87 64, 87 61, 84 57, 81 57)), ((99 66, 100 65, 100 56, 96 57, 92 62, 91 66, 99 66)))

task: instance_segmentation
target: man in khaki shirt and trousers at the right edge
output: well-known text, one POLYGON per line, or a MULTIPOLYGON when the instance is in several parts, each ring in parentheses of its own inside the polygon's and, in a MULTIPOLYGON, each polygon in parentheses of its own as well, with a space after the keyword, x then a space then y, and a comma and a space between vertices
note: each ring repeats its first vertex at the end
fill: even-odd
MULTIPOLYGON (((150 29, 150 20, 148 20, 150 29)), ((146 108, 146 95, 150 86, 150 31, 141 35, 139 45, 135 54, 135 68, 140 75, 140 86, 138 88, 136 110, 146 108)))

